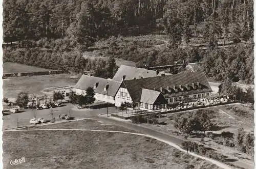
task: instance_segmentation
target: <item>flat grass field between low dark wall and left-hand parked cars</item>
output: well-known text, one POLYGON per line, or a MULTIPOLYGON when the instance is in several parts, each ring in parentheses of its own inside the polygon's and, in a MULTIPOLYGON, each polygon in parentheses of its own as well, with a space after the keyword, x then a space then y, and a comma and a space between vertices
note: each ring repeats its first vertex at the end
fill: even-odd
POLYGON ((41 90, 45 88, 75 85, 80 76, 78 75, 76 78, 72 76, 72 74, 54 74, 3 79, 4 97, 13 100, 21 91, 29 94, 44 95, 41 90))

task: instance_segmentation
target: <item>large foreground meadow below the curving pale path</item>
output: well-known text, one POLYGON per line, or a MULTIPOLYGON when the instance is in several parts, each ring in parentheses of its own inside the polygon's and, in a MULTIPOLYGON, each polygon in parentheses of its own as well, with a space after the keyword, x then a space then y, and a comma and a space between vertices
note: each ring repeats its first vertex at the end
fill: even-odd
MULTIPOLYGON (((74 123, 65 125, 77 127, 74 123)), ((92 125, 92 122, 84 123, 83 127, 92 125)), ((100 126, 114 129, 111 125, 100 126)), ((22 157, 26 162, 18 168, 219 168, 158 140, 132 134, 20 131, 4 132, 3 141, 4 168, 13 168, 10 160, 22 157)))

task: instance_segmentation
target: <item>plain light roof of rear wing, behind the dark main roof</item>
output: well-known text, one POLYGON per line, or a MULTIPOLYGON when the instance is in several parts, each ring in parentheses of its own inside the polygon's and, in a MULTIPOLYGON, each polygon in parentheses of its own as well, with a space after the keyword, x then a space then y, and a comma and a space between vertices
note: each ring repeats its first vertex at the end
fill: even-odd
POLYGON ((157 74, 157 72, 154 70, 147 70, 142 68, 121 65, 118 71, 116 72, 115 76, 113 77, 113 80, 122 81, 123 77, 124 77, 124 80, 131 80, 131 79, 134 79, 134 77, 138 79, 141 77, 146 78, 146 77, 161 76, 162 74, 170 75, 170 73, 159 72, 157 74))

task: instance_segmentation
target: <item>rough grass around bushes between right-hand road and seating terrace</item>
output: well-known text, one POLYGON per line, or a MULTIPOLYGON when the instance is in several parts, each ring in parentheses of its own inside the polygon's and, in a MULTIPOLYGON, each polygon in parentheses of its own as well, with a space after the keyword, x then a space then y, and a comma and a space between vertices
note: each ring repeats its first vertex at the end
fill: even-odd
MULTIPOLYGON (((247 107, 245 104, 236 104, 236 105, 223 105, 218 107, 210 107, 210 110, 214 110, 214 114, 212 114, 211 121, 217 126, 215 128, 216 133, 221 133, 222 131, 229 131, 231 133, 236 134, 240 127, 243 127, 246 132, 253 133, 253 113, 254 111, 247 107), (239 109, 239 111, 234 111, 233 109, 239 109)), ((196 110, 193 110, 196 111, 196 110)), ((192 113, 193 111, 190 111, 192 113)), ((175 134, 176 128, 174 127, 174 114, 167 114, 166 116, 159 118, 160 122, 167 123, 166 125, 153 125, 153 124, 140 124, 142 126, 146 126, 149 128, 153 128, 155 130, 167 133, 167 134, 175 134)), ((180 136, 183 137, 184 136, 180 136)), ((195 142, 201 142, 200 137, 189 136, 189 140, 193 140, 195 142)), ((219 137, 220 140, 223 138, 219 137)), ((217 150, 219 153, 227 155, 228 158, 234 159, 231 162, 233 165, 251 168, 253 164, 253 159, 250 155, 245 153, 241 153, 236 151, 234 148, 227 147, 221 144, 216 143, 215 141, 204 138, 204 145, 207 147, 213 148, 217 150)), ((228 162, 229 163, 229 162, 228 162)), ((228 164, 227 163, 227 164, 228 164)))

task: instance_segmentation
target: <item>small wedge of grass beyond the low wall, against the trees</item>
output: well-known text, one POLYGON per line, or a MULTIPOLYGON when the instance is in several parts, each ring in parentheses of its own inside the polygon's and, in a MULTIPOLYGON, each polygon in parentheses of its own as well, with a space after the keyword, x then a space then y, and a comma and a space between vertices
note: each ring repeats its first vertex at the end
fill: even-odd
POLYGON ((39 68, 35 66, 28 66, 18 63, 5 62, 3 63, 4 73, 21 73, 21 72, 39 72, 39 71, 49 71, 50 69, 39 68))

